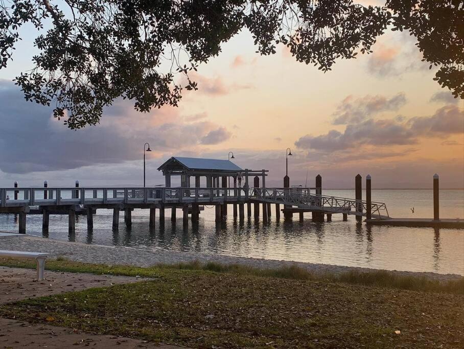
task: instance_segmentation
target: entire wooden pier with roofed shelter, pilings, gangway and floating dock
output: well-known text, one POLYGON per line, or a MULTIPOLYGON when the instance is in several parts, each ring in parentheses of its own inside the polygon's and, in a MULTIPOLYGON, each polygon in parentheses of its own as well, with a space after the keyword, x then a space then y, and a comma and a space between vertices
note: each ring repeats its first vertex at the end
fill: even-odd
MULTIPOLYGON (((94 215, 97 210, 113 211, 112 229, 119 228, 120 213, 124 215, 127 227, 132 225, 132 211, 136 208, 149 210, 150 229, 158 222, 165 222, 165 211, 171 211, 171 220, 176 221, 177 209, 182 210, 184 226, 198 222, 204 206, 213 206, 216 222, 226 219, 228 214, 240 221, 246 216, 268 222, 274 211, 275 219, 292 219, 299 215, 300 221, 305 212, 311 212, 314 222, 332 221, 332 215, 341 214, 343 221, 348 215, 356 216, 358 221, 366 218, 367 224, 429 226, 462 228, 464 222, 459 219, 439 219, 438 175, 433 177, 433 219, 392 219, 388 215, 385 203, 374 202, 371 198, 371 177, 366 176, 366 200, 362 200, 361 176, 355 178, 355 199, 322 195, 322 177, 316 176, 315 188, 290 188, 290 178, 284 178, 284 188, 267 188, 267 170, 242 170, 228 160, 196 159, 172 157, 158 168, 163 171, 166 187, 155 188, 102 188, 75 187, 50 188, 45 181, 41 188, 0 188, 0 214, 13 213, 19 217, 19 233, 26 233, 26 215, 42 215, 42 231, 49 230, 50 215, 68 215, 68 230, 75 232, 77 215, 87 217, 87 228, 93 229, 94 215), (181 187, 171 187, 171 176, 181 176, 181 187), (191 187, 191 177, 195 178, 195 187, 191 187), (206 187, 201 187, 201 178, 205 178, 206 187), (250 187, 249 177, 253 185, 250 187), (228 187, 232 179, 233 187, 228 187), (242 187, 242 179, 244 185, 242 187), (261 179, 261 181, 260 181, 261 179), (313 192, 312 192, 313 191, 313 192), (272 210, 272 205, 274 210, 272 210), (231 206, 232 210, 228 210, 231 206), (245 210, 246 206, 246 210, 245 210), (282 208, 281 208, 282 207, 282 208)), ((179 217, 180 219, 180 217, 179 217)))

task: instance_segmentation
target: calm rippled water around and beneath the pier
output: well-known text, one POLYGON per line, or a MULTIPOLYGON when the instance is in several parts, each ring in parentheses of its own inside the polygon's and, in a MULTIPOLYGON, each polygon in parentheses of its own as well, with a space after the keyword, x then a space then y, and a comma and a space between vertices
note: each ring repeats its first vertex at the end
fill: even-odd
MULTIPOLYGON (((323 194, 354 197, 353 190, 326 190, 323 194)), ((363 194, 363 197, 365 195, 363 194)), ((430 190, 374 190, 373 200, 385 202, 391 217, 433 217, 430 190), (414 207, 414 213, 410 208, 414 207)), ((245 207, 246 210, 246 207, 245 207)), ((221 253, 240 257, 326 263, 389 270, 433 271, 464 275, 464 230, 372 226, 357 223, 350 216, 342 222, 333 215, 330 223, 312 223, 305 214, 300 223, 277 222, 272 206, 272 219, 263 225, 253 218, 240 223, 231 217, 216 224, 214 209, 201 212, 197 226, 182 227, 181 211, 172 224, 170 210, 160 228, 148 228, 148 210, 134 210, 132 228, 126 229, 121 214, 118 232, 111 230, 112 211, 99 210, 94 217, 94 231, 87 232, 84 216, 76 222, 76 234, 68 236, 67 216, 50 216, 49 237, 90 244, 131 246, 144 249, 165 249, 221 253), (180 219, 179 219, 180 217, 180 219)), ((245 212, 246 215, 246 212, 245 212)), ((440 217, 464 219, 464 191, 440 191, 440 217)), ((0 215, 0 230, 17 231, 14 215, 0 215)), ((29 234, 42 236, 41 216, 28 216, 29 234)))

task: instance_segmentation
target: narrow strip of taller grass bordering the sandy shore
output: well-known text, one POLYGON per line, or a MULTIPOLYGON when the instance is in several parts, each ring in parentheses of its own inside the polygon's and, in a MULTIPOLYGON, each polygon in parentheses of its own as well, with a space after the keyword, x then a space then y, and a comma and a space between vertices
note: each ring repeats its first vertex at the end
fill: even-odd
MULTIPOLYGON (((0 259, 0 265, 35 268, 35 262, 21 259, 0 259)), ((89 264, 67 260, 59 256, 45 263, 45 269, 54 271, 83 272, 92 274, 111 274, 126 276, 160 277, 169 270, 198 270, 216 273, 232 273, 237 275, 252 275, 261 277, 276 277, 293 280, 320 281, 330 283, 347 283, 353 285, 395 288, 411 291, 443 292, 464 294, 464 277, 456 280, 438 281, 428 277, 408 276, 386 270, 369 272, 347 271, 343 273, 316 274, 296 265, 283 266, 276 269, 259 269, 243 264, 220 264, 216 262, 200 263, 199 261, 177 264, 158 264, 142 268, 126 265, 89 264)))

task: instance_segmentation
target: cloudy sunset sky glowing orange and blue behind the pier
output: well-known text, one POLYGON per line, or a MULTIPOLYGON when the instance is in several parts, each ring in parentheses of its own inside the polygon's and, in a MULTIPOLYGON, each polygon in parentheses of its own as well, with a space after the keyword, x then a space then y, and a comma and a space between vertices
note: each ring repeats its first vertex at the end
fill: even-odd
MULTIPOLYGON (((432 80, 414 39, 388 32, 373 54, 338 61, 332 72, 298 63, 285 46, 273 56, 255 53, 243 31, 192 76, 178 108, 150 113, 117 101, 101 124, 72 131, 51 108, 24 101, 11 80, 32 67, 33 39, 20 42, 0 71, 0 186, 141 185, 143 144, 147 183, 172 155, 227 159, 269 169, 281 186, 290 147, 291 184, 309 185, 320 173, 326 188, 353 188, 354 176, 373 176, 374 188, 464 187, 464 102, 432 80)), ((179 77, 180 78, 180 77, 179 77)))

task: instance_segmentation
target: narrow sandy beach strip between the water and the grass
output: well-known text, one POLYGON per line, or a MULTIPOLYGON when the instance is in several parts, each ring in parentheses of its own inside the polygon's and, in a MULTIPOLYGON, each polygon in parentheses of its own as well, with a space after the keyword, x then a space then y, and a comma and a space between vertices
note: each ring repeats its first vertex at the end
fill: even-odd
POLYGON ((0 249, 40 251, 49 253, 50 257, 62 256, 72 261, 106 265, 133 265, 149 267, 156 264, 176 264, 180 262, 199 261, 201 263, 216 262, 221 264, 242 264, 260 269, 276 269, 283 266, 296 265, 314 273, 343 273, 349 271, 373 272, 384 270, 405 276, 427 277, 431 280, 457 280, 459 274, 439 274, 435 272, 416 272, 402 270, 386 270, 363 267, 349 267, 332 264, 318 264, 284 260, 269 260, 250 257, 233 257, 224 254, 207 254, 198 252, 178 252, 167 250, 145 250, 136 247, 106 246, 68 242, 58 239, 36 236, 22 236, 21 239, 1 239, 0 249), (136 253, 133 253, 136 252, 136 253))

